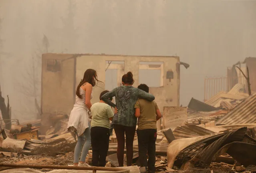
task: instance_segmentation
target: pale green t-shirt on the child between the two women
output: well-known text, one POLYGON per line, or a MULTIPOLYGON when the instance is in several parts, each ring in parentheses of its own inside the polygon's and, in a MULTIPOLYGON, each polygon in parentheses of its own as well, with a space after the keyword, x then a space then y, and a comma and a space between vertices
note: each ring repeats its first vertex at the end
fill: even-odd
POLYGON ((106 103, 94 103, 91 107, 91 127, 99 126, 109 129, 109 118, 114 116, 114 113, 106 103))

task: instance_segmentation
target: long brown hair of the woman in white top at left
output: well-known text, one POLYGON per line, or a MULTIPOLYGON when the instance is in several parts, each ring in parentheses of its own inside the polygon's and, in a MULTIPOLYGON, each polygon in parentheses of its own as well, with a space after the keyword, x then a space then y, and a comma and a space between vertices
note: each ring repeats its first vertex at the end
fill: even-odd
MULTIPOLYGON (((81 82, 79 83, 79 85, 77 86, 77 92, 76 95, 77 97, 79 97, 80 99, 82 99, 82 96, 80 94, 80 87, 85 83, 88 82, 89 84, 91 84, 93 87, 96 85, 96 82, 101 82, 100 80, 98 80, 98 76, 97 76, 97 72, 96 70, 93 70, 91 68, 87 69, 84 73, 84 77, 81 80, 81 82)), ((103 83, 103 82, 101 82, 103 83)))

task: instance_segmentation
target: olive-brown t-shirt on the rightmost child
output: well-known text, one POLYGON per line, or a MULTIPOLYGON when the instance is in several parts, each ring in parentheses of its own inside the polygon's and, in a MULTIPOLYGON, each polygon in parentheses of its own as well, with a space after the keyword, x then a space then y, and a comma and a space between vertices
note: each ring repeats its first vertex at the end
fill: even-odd
POLYGON ((140 109, 140 116, 138 118, 138 130, 157 129, 156 110, 159 108, 155 101, 138 99, 134 108, 140 109))

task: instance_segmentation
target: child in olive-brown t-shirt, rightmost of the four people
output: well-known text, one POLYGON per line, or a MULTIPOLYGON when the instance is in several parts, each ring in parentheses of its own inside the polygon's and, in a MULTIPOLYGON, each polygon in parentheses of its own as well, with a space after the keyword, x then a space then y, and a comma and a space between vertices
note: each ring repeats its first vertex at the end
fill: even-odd
MULTIPOLYGON (((149 92, 149 87, 146 84, 140 84, 138 89, 149 92)), ((161 113, 155 101, 138 99, 134 107, 135 117, 138 118, 137 136, 140 166, 148 167, 149 173, 155 173, 156 122, 161 118, 161 113), (149 156, 148 161, 147 153, 149 156)))

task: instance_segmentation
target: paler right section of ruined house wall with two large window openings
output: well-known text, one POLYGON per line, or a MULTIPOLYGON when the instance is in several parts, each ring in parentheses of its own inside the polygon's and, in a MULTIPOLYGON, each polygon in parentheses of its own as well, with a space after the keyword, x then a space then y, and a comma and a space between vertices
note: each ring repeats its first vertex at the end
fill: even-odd
MULTIPOLYGON (((164 62, 163 63, 163 87, 150 87, 150 93, 155 95, 155 101, 161 111, 166 106, 179 106, 179 57, 159 57, 159 56, 113 56, 113 55, 84 55, 77 57, 77 83, 83 78, 83 73, 87 68, 97 70, 99 80, 105 83, 105 62, 124 61, 125 73, 131 71, 135 80, 133 86, 138 86, 139 62, 164 62), (173 79, 166 79, 168 70, 173 71, 173 79)), ((93 89, 93 103, 99 101, 99 94, 103 88, 93 89)))

